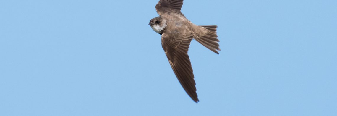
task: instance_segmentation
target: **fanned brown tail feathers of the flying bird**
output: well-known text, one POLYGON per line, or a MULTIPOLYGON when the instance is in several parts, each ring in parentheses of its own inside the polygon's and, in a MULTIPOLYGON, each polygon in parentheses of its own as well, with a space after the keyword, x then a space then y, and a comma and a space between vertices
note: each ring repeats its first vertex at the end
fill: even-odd
POLYGON ((206 48, 210 49, 211 51, 219 54, 217 50, 220 51, 218 40, 218 35, 216 33, 217 25, 199 25, 201 28, 201 32, 196 38, 194 38, 197 42, 204 45, 206 48))

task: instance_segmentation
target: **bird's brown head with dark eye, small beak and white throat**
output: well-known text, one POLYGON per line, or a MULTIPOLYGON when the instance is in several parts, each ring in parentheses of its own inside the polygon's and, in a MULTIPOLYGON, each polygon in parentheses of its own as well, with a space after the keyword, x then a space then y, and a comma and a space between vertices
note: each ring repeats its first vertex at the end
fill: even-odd
POLYGON ((161 35, 163 34, 163 30, 166 27, 166 21, 163 20, 161 17, 154 17, 150 20, 150 23, 148 25, 151 26, 153 31, 161 35))

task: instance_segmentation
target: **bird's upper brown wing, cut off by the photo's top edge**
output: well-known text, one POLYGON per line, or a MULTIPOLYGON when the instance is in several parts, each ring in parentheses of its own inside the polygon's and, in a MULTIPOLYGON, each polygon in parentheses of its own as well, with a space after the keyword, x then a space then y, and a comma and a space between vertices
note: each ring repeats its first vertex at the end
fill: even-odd
POLYGON ((159 15, 166 12, 175 12, 184 15, 180 12, 184 0, 159 0, 156 5, 156 10, 159 15))

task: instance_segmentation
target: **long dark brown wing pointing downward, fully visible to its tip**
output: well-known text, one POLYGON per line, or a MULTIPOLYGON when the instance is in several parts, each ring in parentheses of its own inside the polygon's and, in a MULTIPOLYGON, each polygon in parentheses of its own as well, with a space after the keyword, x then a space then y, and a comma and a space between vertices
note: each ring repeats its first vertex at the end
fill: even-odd
POLYGON ((196 94, 193 69, 187 55, 192 38, 192 33, 177 38, 164 33, 161 37, 161 45, 180 84, 193 101, 197 103, 199 100, 196 94))

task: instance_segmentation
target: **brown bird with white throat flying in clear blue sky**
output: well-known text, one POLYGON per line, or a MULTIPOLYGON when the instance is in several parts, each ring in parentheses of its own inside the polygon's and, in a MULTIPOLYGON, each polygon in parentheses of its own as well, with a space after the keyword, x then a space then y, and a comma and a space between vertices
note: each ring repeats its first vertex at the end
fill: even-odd
POLYGON ((176 77, 189 97, 198 103, 192 65, 187 54, 192 39, 219 54, 217 25, 195 25, 181 12, 183 0, 159 0, 158 17, 148 25, 161 35, 161 45, 176 77))

